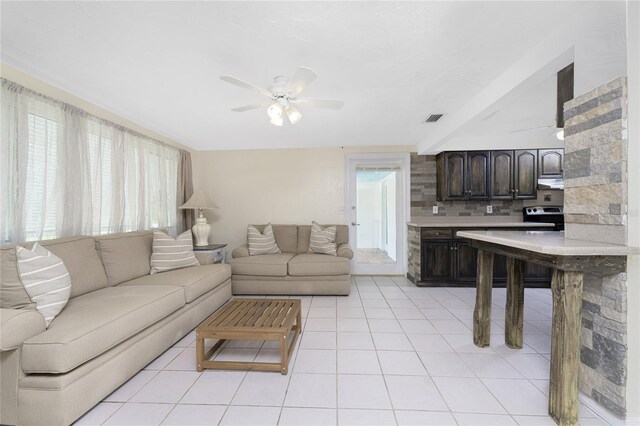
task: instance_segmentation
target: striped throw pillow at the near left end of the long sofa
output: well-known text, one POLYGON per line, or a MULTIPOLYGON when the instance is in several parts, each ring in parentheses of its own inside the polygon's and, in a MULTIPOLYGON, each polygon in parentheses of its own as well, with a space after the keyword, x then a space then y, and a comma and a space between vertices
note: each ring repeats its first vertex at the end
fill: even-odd
POLYGON ((49 327, 69 300, 69 271, 59 257, 38 243, 31 250, 16 247, 16 256, 20 282, 49 327))

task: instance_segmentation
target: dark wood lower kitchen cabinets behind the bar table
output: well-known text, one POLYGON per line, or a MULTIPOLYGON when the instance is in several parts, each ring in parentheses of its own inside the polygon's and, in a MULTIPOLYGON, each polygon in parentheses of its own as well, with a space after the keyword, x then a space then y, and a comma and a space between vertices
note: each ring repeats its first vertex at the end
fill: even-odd
MULTIPOLYGON (((475 228, 477 230, 477 228, 475 228)), ((494 228, 495 229, 495 228, 494 228)), ((531 228, 509 228, 532 230, 531 228)), ((548 228, 540 228, 544 230, 548 228)), ((421 281, 419 286, 475 286, 477 255, 468 240, 455 238, 454 228, 422 228, 420 244, 421 281)), ((471 230, 465 228, 465 230, 471 230)), ((495 255, 493 260, 493 283, 504 287, 507 282, 507 259, 495 255)), ((544 266, 527 263, 525 284, 527 287, 549 287, 551 270, 544 266)))

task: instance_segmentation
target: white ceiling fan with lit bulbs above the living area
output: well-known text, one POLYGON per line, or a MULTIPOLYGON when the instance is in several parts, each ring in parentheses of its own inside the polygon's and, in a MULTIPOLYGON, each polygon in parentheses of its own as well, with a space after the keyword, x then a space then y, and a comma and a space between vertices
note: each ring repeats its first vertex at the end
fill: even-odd
POLYGON ((284 124, 284 115, 287 116, 291 124, 296 124, 302 118, 302 114, 296 107, 313 107, 340 109, 344 105, 343 101, 335 99, 315 99, 315 98, 299 98, 298 95, 307 87, 318 74, 311 68, 299 67, 293 74, 293 77, 277 76, 273 79, 273 85, 269 90, 262 89, 251 83, 239 80, 235 77, 223 75, 220 80, 227 83, 251 90, 262 96, 269 98, 264 102, 245 105, 233 108, 231 111, 244 112, 252 109, 267 107, 267 114, 271 119, 271 124, 282 126, 284 124))

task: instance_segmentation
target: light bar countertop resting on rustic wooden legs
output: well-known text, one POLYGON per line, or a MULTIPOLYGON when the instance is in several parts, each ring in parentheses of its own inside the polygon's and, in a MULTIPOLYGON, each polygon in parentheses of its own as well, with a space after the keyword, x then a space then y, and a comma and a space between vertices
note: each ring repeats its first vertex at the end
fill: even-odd
POLYGON ((458 237, 556 256, 627 256, 640 247, 573 240, 558 231, 458 231, 458 237))

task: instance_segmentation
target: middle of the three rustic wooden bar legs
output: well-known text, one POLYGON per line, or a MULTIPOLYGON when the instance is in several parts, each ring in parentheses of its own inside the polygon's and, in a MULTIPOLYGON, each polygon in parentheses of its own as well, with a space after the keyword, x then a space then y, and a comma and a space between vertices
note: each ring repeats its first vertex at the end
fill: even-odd
POLYGON ((514 349, 522 349, 524 326, 524 270, 523 260, 507 258, 507 305, 504 317, 504 341, 514 349))

